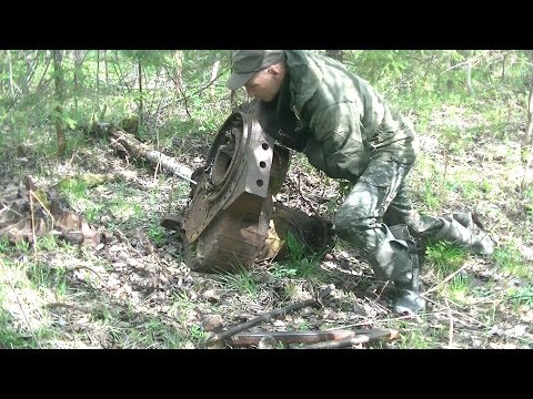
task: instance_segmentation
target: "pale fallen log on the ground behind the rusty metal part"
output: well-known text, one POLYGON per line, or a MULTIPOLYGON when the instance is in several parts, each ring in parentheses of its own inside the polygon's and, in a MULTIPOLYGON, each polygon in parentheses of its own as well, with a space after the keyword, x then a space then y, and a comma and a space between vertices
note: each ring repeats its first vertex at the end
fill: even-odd
POLYGON ((193 171, 189 166, 180 164, 171 156, 149 147, 122 129, 103 122, 97 123, 94 129, 99 134, 112 137, 111 144, 119 150, 125 151, 130 157, 147 160, 153 166, 157 167, 160 165, 163 171, 195 184, 195 182, 191 180, 193 171))

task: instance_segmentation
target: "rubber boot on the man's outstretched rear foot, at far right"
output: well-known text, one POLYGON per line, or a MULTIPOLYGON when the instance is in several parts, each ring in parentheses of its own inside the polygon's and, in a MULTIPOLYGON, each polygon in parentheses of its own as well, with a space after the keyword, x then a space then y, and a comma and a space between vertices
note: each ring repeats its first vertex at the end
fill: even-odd
POLYGON ((476 226, 471 213, 455 213, 439 217, 443 226, 433 238, 446 241, 476 255, 492 255, 494 243, 489 234, 476 226), (476 233, 475 229, 479 232, 476 233))

